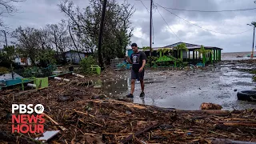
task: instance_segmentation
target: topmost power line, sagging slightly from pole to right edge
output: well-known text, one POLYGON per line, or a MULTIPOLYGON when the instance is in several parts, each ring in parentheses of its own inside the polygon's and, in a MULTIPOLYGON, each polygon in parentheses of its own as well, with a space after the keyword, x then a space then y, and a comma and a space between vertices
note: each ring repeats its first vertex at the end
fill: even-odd
MULTIPOLYGON (((156 3, 156 4, 158 4, 158 3, 156 3)), ((164 6, 162 6, 162 7, 165 8, 165 9, 170 9, 170 10, 181 10, 181 11, 202 12, 202 13, 220 13, 220 12, 234 12, 234 11, 256 10, 256 8, 238 9, 238 10, 185 10, 185 9, 176 9, 176 8, 164 7, 164 6)))

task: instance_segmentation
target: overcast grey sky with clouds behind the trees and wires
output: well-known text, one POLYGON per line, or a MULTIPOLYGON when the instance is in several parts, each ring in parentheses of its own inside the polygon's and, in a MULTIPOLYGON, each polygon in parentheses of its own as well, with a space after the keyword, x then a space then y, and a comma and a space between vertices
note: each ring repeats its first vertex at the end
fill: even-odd
MULTIPOLYGON (((123 0, 117 0, 119 3, 123 0)), ((65 14, 61 13, 58 4, 60 0, 26 0, 26 2, 14 3, 19 13, 13 16, 6 15, 2 18, 6 25, 12 30, 18 26, 34 26, 40 28, 46 24, 54 24, 65 19, 65 14)), ((74 4, 86 7, 88 0, 73 0, 74 4)), ((130 19, 134 27, 132 42, 138 46, 150 46, 150 0, 128 0, 134 5, 136 11, 130 19)), ((154 4, 160 6, 185 9, 185 10, 238 10, 255 8, 254 0, 154 0, 154 4)), ((222 13, 200 13, 180 10, 170 10, 154 6, 153 26, 154 44, 153 47, 167 46, 175 42, 188 42, 204 46, 218 46, 223 52, 250 51, 253 41, 253 27, 247 23, 256 22, 256 10, 222 12, 222 13), (162 19, 158 10, 166 22, 162 19), (194 23, 203 28, 217 31, 218 34, 208 30, 203 30, 189 22, 170 14, 177 14, 179 17, 194 23), (170 30, 172 29, 174 33, 170 30), (246 33, 240 33, 249 30, 246 33), (178 36, 178 38, 175 36, 178 36), (231 35, 233 34, 233 35, 231 35)), ((1 40, 2 40, 2 35, 1 40)), ((2 43, 1 43, 2 45, 2 43)))

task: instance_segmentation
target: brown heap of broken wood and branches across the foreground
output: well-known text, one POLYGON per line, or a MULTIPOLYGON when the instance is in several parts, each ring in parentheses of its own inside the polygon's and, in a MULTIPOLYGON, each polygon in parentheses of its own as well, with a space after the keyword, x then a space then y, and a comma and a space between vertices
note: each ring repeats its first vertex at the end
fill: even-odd
POLYGON ((163 109, 109 98, 88 81, 72 82, 50 80, 48 88, 32 93, 0 91, 0 143, 36 143, 35 138, 42 138, 11 134, 13 103, 45 107, 45 131, 60 130, 49 143, 256 142, 256 110, 163 109))

